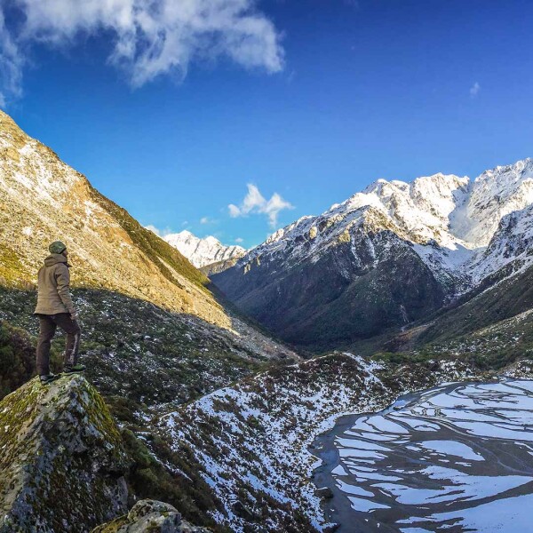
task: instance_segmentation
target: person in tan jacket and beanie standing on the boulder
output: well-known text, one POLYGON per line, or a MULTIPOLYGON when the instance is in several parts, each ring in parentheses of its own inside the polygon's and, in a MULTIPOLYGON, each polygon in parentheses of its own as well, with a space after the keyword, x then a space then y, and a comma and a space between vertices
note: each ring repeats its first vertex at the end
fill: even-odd
POLYGON ((50 346, 58 326, 67 333, 63 373, 74 374, 85 370, 84 365, 77 363, 81 330, 70 297, 67 246, 56 241, 48 250, 50 255, 44 259, 44 266, 39 269, 37 306, 34 312, 40 322, 36 357, 37 373, 43 384, 58 378, 50 371, 50 346))

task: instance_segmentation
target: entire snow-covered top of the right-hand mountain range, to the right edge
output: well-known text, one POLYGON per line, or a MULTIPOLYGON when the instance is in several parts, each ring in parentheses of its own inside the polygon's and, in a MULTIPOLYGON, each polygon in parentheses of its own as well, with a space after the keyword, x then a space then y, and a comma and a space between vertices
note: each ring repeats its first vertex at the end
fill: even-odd
POLYGON ((522 228, 522 240, 530 242, 530 205, 533 159, 499 166, 473 180, 442 173, 410 183, 378 179, 322 215, 302 217, 279 229, 238 265, 249 272, 259 263, 279 270, 315 263, 339 244, 349 243, 354 251, 358 243, 381 233, 391 246, 395 237, 414 245, 435 278, 450 292, 461 292, 513 262, 514 252, 527 255, 518 241, 506 243, 513 238, 509 224, 521 217, 527 220, 513 227, 522 228))

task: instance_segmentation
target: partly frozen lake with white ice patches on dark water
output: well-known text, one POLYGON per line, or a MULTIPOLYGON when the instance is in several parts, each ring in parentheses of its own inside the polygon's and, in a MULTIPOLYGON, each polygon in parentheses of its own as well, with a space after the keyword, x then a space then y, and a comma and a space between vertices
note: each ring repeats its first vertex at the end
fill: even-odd
POLYGON ((339 532, 533 532, 533 381, 411 394, 315 444, 339 532))

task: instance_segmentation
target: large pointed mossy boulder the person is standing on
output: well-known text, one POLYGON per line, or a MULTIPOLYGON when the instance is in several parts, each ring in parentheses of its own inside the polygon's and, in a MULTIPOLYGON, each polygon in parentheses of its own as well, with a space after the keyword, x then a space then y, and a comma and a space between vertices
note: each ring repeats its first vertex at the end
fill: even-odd
POLYGON ((82 533, 127 509, 128 459, 82 376, 32 379, 0 402, 0 533, 82 533))

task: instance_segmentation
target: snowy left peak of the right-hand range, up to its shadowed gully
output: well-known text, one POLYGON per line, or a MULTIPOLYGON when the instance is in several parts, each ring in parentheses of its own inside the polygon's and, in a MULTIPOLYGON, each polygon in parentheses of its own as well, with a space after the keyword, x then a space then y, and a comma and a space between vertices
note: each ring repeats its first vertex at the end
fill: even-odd
POLYGON ((457 206, 469 192, 469 179, 434 174, 412 183, 378 179, 361 193, 336 203, 318 217, 302 217, 268 237, 243 261, 285 251, 283 260, 299 262, 321 255, 346 241, 357 228, 363 232, 388 230, 412 243, 467 247, 450 233, 457 206))

